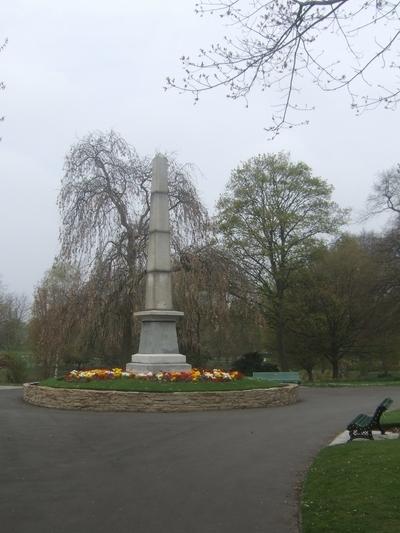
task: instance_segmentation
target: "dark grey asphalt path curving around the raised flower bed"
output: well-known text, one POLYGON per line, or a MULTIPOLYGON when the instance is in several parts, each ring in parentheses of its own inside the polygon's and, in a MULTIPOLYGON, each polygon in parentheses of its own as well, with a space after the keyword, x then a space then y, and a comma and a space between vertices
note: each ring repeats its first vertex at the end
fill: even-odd
POLYGON ((312 458, 386 396, 400 408, 400 388, 360 387, 269 409, 96 413, 0 390, 0 531, 296 533, 312 458))

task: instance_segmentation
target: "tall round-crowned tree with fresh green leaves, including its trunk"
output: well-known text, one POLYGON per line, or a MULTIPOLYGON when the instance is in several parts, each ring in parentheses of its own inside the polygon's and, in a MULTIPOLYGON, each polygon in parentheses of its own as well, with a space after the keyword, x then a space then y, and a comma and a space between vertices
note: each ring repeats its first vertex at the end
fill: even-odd
POLYGON ((276 330, 280 365, 287 366, 286 291, 293 273, 310 260, 320 239, 338 231, 346 210, 332 187, 303 162, 284 153, 259 155, 233 171, 218 203, 224 245, 257 288, 259 303, 276 330))

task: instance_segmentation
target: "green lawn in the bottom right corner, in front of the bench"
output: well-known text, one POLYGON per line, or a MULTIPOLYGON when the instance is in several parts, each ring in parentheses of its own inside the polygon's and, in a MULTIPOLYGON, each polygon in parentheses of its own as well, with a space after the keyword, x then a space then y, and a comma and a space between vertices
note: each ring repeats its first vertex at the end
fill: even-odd
MULTIPOLYGON (((397 411, 396 416, 399 414, 397 411)), ((399 531, 399 494, 400 440, 352 442, 325 448, 305 481, 302 531, 399 531)))

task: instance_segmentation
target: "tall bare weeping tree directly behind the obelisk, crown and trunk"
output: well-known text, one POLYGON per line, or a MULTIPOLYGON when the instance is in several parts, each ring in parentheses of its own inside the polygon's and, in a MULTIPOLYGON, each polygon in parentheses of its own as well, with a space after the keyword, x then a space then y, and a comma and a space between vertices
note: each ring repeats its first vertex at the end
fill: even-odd
MULTIPOLYGON (((64 169, 58 199, 60 258, 79 264, 87 280, 88 346, 102 331, 103 337, 114 338, 115 350, 119 343, 128 356, 135 342, 133 312, 143 294, 151 160, 110 131, 89 134, 73 145, 64 169)), ((200 243, 207 227, 191 171, 169 158, 171 240, 177 254, 200 243)))

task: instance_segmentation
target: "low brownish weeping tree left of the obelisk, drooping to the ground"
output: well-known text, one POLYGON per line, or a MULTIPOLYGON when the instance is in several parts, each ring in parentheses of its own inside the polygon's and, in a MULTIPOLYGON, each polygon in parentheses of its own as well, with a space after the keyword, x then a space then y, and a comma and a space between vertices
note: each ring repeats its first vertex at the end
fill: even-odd
MULTIPOLYGON (((79 269, 55 261, 34 294, 29 334, 44 376, 62 368, 122 365, 132 333, 126 272, 96 261, 83 279, 79 269)), ((133 335, 134 338, 134 335, 133 335)))

